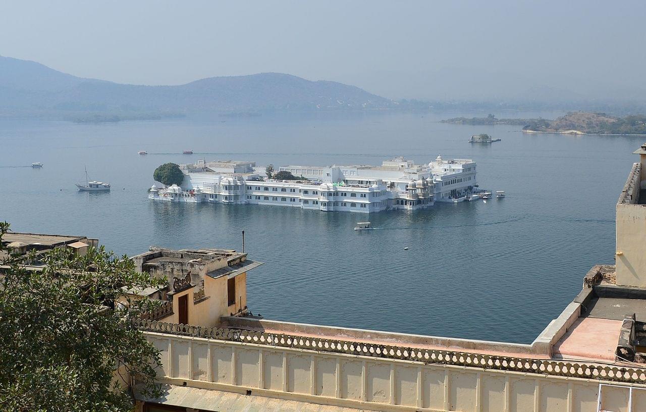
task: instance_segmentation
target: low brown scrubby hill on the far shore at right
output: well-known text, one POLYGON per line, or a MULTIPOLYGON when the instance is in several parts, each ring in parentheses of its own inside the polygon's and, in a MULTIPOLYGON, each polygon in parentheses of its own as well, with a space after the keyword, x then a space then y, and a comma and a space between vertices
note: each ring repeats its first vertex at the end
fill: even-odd
POLYGON ((537 119, 524 132, 571 134, 646 134, 646 116, 616 118, 605 113, 572 112, 556 120, 537 119))

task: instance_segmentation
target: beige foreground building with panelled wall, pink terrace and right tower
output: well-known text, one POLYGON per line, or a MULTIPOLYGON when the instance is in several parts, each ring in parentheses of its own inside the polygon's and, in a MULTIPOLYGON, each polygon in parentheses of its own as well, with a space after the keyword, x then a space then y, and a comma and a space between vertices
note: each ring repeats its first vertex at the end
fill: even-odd
MULTIPOLYGON (((231 309, 219 320, 211 312, 200 318, 214 327, 198 318, 194 325, 141 320, 140 330, 161 353, 165 396, 136 395, 138 407, 646 411, 646 196, 640 201, 646 145, 637 153, 641 161, 617 204, 616 266, 592 267, 581 293, 532 344, 276 322, 230 316, 231 309)), ((192 273, 191 287, 203 277, 192 273)))

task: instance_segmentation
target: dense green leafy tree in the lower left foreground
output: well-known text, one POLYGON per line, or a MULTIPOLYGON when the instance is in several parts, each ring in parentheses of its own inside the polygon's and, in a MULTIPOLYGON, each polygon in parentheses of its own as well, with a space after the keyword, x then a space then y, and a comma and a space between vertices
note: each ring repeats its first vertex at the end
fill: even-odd
POLYGON ((103 247, 85 256, 66 248, 19 256, 2 245, 8 230, 0 222, 0 410, 132 411, 132 394, 114 377, 136 376, 145 393, 159 396, 159 353, 132 327, 134 311, 114 302, 123 290, 161 281, 103 247), (26 269, 34 260, 45 269, 26 269))

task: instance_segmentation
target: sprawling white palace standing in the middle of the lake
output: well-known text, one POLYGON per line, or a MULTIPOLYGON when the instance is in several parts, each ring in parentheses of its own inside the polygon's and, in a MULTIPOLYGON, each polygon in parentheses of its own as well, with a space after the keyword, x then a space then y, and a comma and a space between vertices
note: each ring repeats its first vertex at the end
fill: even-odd
POLYGON ((276 205, 319 211, 379 212, 415 210, 435 201, 464 200, 475 190, 475 162, 443 160, 415 165, 394 158, 380 166, 282 166, 302 180, 267 179, 264 167, 250 161, 198 161, 180 165, 182 187, 152 185, 149 198, 240 205, 276 205))

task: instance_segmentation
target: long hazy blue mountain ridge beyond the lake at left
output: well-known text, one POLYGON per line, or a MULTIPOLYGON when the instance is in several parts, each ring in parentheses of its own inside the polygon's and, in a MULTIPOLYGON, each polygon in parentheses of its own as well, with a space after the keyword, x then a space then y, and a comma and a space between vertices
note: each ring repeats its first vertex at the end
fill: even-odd
POLYGON ((393 107, 390 99, 333 81, 280 73, 209 77, 179 86, 84 79, 34 61, 0 56, 0 114, 151 114, 353 110, 393 107))

